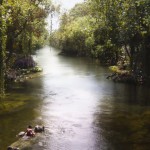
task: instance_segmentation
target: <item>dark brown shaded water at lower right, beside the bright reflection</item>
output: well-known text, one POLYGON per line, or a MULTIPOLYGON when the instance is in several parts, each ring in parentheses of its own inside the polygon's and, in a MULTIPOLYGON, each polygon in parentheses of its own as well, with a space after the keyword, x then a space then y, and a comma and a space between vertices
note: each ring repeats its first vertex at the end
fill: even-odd
POLYGON ((149 150, 150 89, 114 84, 95 113, 95 131, 107 150, 149 150))

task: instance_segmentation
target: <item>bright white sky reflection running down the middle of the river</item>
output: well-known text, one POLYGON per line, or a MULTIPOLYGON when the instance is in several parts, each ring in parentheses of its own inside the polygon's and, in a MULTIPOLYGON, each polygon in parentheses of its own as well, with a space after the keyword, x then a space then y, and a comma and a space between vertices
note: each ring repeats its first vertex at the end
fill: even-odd
POLYGON ((47 48, 44 51, 43 56, 37 53, 39 64, 44 64, 46 56, 53 65, 44 67, 42 77, 45 95, 42 118, 48 127, 42 148, 99 150, 104 147, 104 141, 95 139, 93 114, 101 92, 109 86, 105 78, 108 70, 92 60, 60 56, 59 51, 47 48), (96 140, 101 141, 100 147, 96 147, 96 140))

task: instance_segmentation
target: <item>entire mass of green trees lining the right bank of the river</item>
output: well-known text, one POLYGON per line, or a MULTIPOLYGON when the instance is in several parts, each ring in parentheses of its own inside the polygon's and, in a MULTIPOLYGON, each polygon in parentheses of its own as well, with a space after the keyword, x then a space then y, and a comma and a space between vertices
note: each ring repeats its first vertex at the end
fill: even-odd
POLYGON ((120 65, 150 79, 150 0, 86 0, 61 16, 50 37, 62 53, 120 65))

